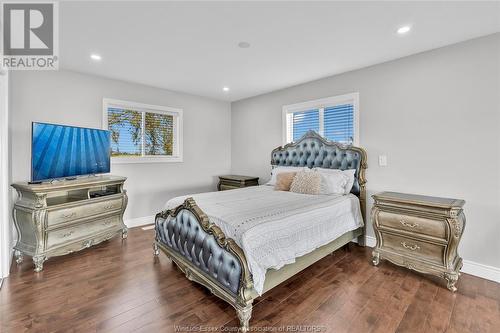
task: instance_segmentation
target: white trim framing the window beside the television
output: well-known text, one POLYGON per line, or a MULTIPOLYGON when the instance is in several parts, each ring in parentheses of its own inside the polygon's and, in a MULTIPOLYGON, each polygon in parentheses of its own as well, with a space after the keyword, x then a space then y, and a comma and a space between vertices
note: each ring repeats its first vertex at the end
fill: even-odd
MULTIPOLYGON (((112 164, 129 164, 129 163, 169 163, 183 161, 183 144, 182 144, 182 126, 183 126, 183 110, 168 106, 143 104, 130 102, 118 99, 103 98, 102 100, 102 128, 108 129, 108 108, 130 108, 137 111, 155 112, 161 114, 169 114, 175 117, 177 126, 174 126, 175 142, 177 142, 176 151, 173 156, 140 156, 140 157, 111 157, 112 164)), ((144 144, 142 145, 144 149, 144 144)))

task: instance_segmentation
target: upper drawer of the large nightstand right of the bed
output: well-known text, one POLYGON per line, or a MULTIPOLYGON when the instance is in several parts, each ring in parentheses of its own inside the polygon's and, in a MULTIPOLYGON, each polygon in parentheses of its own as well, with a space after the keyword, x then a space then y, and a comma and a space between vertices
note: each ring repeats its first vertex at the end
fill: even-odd
POLYGON ((411 215, 379 211, 378 223, 381 227, 389 227, 436 238, 446 239, 445 221, 426 219, 411 215))

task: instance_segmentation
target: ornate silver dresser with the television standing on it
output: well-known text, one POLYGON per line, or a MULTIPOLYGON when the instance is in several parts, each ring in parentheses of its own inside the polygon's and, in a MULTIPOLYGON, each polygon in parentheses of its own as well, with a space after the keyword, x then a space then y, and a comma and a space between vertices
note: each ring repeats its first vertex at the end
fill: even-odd
POLYGON ((12 184, 17 263, 33 258, 35 272, 49 257, 88 248, 115 235, 127 237, 125 177, 95 176, 52 183, 12 184))

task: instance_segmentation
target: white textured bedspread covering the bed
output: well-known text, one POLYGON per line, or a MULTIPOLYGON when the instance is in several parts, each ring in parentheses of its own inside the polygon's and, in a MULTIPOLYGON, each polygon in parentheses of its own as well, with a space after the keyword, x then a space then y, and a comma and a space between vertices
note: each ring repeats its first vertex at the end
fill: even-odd
POLYGON ((260 295, 268 269, 293 263, 363 226, 359 200, 352 194, 298 194, 263 185, 176 197, 166 208, 175 208, 188 197, 242 248, 260 295))

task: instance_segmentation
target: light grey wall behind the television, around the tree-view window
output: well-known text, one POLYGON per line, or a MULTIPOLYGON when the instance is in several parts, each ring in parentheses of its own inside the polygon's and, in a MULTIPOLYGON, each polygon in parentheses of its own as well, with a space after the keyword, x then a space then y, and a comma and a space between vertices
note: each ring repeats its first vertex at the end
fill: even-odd
MULTIPOLYGON (((30 178, 31 122, 100 128, 103 97, 184 109, 184 162, 112 164, 126 176, 125 219, 151 216, 174 196, 216 189, 230 170, 230 104, 69 71, 11 75, 12 181, 30 178)), ((152 221, 151 221, 152 222, 152 221)))

